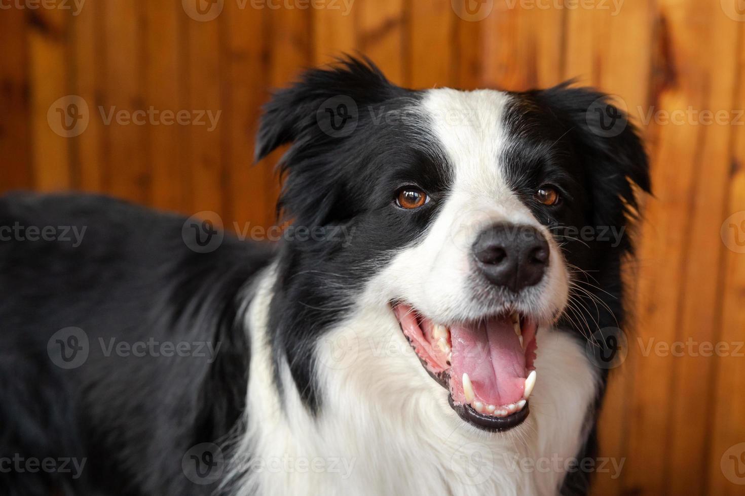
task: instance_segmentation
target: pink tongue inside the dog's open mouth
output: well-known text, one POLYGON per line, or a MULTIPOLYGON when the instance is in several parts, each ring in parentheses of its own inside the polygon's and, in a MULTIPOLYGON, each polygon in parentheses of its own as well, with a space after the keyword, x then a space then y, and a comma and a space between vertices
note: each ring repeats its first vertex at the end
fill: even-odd
POLYGON ((453 399, 464 402, 463 373, 469 375, 475 401, 500 407, 522 399, 525 352, 509 317, 473 326, 452 326, 453 399))

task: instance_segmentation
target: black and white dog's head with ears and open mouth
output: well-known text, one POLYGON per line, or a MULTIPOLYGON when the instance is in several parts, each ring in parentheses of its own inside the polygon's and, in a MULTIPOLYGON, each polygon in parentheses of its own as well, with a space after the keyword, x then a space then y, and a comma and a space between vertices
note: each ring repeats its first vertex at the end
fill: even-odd
POLYGON ((265 110, 257 158, 291 143, 279 206, 298 234, 273 344, 311 407, 317 341, 355 313, 371 335, 393 323, 416 351, 396 360, 414 370, 419 358, 487 430, 527 416, 539 329, 587 335, 622 320, 633 184, 650 186, 635 129, 603 94, 412 91, 349 59, 265 110))

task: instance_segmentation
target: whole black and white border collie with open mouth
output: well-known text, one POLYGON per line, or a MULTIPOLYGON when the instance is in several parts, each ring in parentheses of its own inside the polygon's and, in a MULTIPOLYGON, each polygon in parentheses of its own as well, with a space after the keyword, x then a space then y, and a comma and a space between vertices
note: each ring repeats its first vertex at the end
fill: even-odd
POLYGON ((2 492, 587 492, 565 460, 595 456, 588 350, 627 321, 650 190, 626 117, 587 88, 414 91, 351 58, 264 110, 257 159, 289 144, 279 242, 0 199, 2 492))

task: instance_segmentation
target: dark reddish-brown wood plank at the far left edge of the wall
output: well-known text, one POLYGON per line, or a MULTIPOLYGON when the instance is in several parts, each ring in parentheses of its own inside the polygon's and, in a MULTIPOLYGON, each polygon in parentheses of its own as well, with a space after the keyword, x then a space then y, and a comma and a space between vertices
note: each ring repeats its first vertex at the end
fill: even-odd
POLYGON ((19 9, 0 16, 0 193, 32 186, 31 130, 28 101, 28 42, 24 13, 19 9))

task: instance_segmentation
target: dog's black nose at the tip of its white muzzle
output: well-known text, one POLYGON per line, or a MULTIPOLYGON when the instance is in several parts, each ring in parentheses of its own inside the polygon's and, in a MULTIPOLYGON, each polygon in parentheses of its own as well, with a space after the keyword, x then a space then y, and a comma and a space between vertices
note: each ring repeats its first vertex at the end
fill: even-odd
POLYGON ((513 292, 535 286, 548 267, 548 242, 527 225, 493 225, 479 234, 472 250, 486 280, 513 292))

